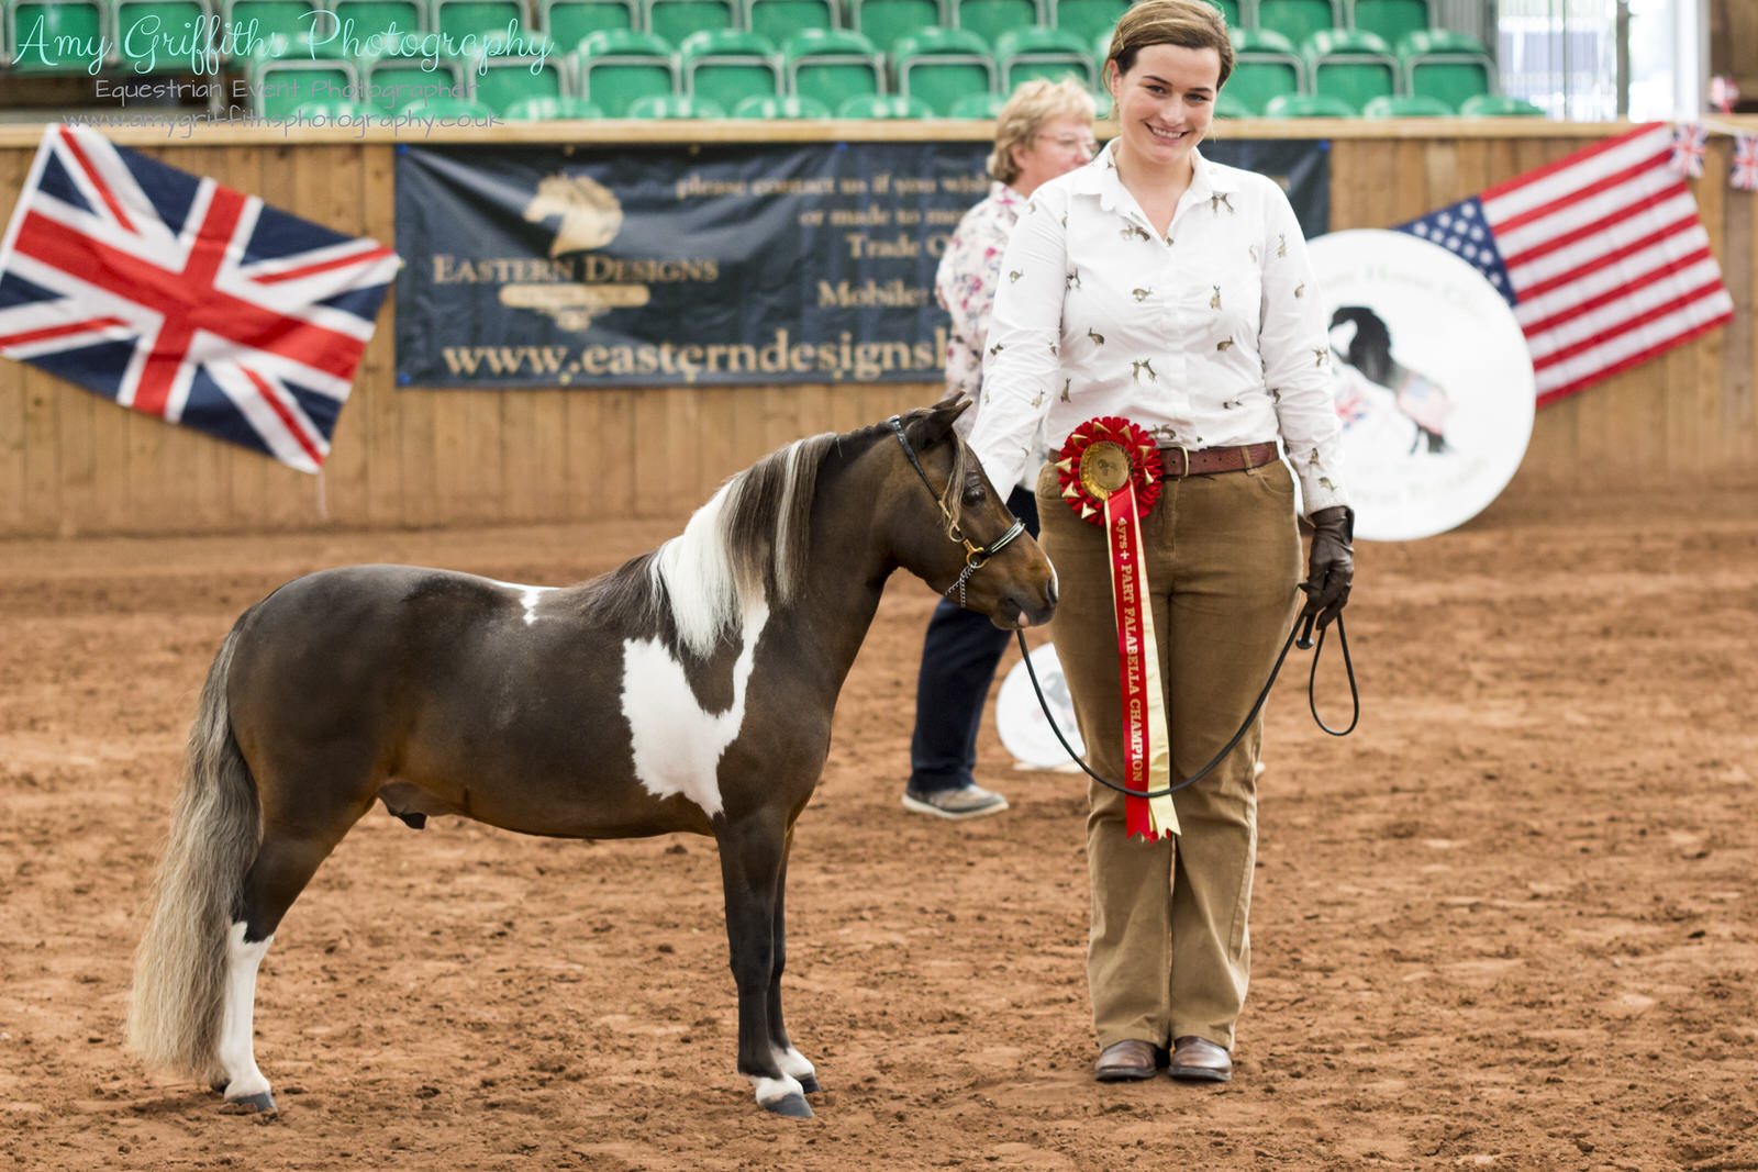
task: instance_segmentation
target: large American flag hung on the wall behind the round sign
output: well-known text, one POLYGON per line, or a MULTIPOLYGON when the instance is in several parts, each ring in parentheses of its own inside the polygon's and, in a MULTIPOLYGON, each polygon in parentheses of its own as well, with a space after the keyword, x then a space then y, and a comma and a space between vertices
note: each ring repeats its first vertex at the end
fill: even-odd
POLYGON ((1542 406, 1733 316, 1670 160, 1667 125, 1638 127, 1399 230, 1471 262, 1507 297, 1542 406))

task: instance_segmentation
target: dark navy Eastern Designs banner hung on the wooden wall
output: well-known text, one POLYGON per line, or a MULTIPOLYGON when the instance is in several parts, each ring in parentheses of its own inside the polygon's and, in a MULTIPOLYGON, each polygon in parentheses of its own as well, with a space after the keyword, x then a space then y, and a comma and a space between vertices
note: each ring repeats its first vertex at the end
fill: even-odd
MULTIPOLYGON (((1211 142, 1329 227, 1324 142, 1211 142)), ((933 271, 986 142, 397 155, 397 381, 933 381, 933 271)))

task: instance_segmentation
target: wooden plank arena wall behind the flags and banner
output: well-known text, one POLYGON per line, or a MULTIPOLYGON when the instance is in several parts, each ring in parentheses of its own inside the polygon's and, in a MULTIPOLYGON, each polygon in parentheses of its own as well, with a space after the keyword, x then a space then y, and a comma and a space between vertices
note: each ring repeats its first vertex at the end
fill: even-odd
MULTIPOLYGON (((1747 132, 1758 130, 1758 119, 1747 132)), ((1232 123, 1229 137, 1333 142, 1331 227, 1389 227, 1605 137, 1559 123, 1232 123)), ((498 128, 531 141, 554 127, 498 128)), ((580 123, 552 141, 984 139, 986 123, 580 123)), ((0 221, 11 218, 37 128, 0 128, 0 221)), ((206 128, 130 146, 336 230, 396 242, 389 135, 206 128)), ((443 135, 436 134, 434 141, 443 135)), ((459 141, 482 141, 457 130, 459 141)), ((1739 309, 1732 327, 1538 411, 1510 492, 1682 480, 1758 483, 1753 371, 1753 193, 1726 186, 1732 144, 1711 141, 1693 183, 1739 309)), ((35 367, 0 360, 0 538, 237 532, 316 525, 440 525, 585 517, 682 517, 730 473, 782 443, 849 430, 930 402, 937 385, 675 387, 628 390, 397 388, 394 299, 380 318, 322 476, 116 408, 35 367), (673 445, 684 439, 686 450, 673 445), (666 469, 661 474, 657 469, 666 469)))

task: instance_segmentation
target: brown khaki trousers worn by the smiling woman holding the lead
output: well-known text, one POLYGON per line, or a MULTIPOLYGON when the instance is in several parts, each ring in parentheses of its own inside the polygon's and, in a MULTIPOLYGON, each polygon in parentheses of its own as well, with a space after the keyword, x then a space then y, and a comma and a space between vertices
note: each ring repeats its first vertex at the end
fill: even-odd
MULTIPOLYGON (((1106 532, 1037 481, 1039 543, 1057 568, 1051 624, 1086 759, 1123 773, 1122 684, 1106 532)), ((1167 480, 1141 525, 1171 738, 1173 782, 1239 727, 1294 622, 1301 541, 1285 464, 1167 480)), ((1092 935, 1086 982, 1099 1045, 1197 1035, 1232 1049, 1252 944, 1262 717, 1206 778, 1173 796, 1181 835, 1125 840, 1123 794, 1088 782, 1092 935)))

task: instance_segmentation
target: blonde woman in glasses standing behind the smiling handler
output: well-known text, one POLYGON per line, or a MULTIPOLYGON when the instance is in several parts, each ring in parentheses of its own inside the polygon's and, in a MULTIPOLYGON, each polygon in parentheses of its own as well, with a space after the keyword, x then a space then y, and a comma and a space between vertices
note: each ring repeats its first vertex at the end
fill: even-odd
MULTIPOLYGON (((993 177, 988 199, 965 213, 946 244, 933 292, 953 315, 946 343, 946 390, 981 402, 983 344, 990 307, 1000 279, 1007 235, 1039 184, 1081 167, 1093 156, 1093 100, 1074 81, 1027 81, 995 121, 993 177)), ((965 411, 958 427, 967 436, 977 411, 965 411)), ((1042 452, 1037 453, 1042 460, 1042 452)), ((1032 485, 1037 467, 1009 481, 1007 506, 1037 534, 1032 485)), ((909 784, 904 807, 948 819, 1000 814, 1007 799, 976 784, 977 727, 983 703, 995 680, 995 664, 1007 648, 1007 633, 983 615, 941 601, 928 620, 916 684, 916 733, 909 743, 909 784)))

